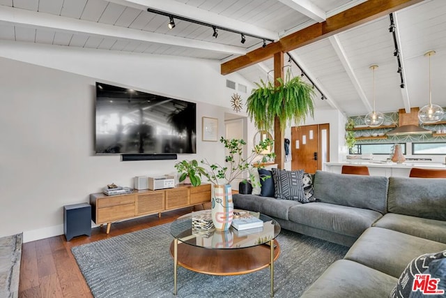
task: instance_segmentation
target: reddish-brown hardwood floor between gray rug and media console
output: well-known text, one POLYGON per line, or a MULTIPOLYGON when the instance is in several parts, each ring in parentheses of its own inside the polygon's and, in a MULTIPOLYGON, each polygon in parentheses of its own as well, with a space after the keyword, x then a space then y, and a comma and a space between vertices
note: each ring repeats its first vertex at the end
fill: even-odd
POLYGON ((93 228, 91 236, 65 236, 32 241, 22 246, 19 297, 93 297, 84 280, 71 248, 81 244, 107 239, 120 234, 170 223, 178 216, 192 211, 192 207, 157 215, 113 223, 109 234, 104 228, 93 228))

